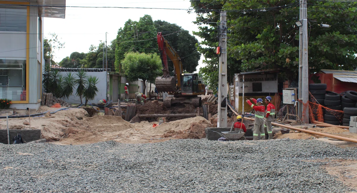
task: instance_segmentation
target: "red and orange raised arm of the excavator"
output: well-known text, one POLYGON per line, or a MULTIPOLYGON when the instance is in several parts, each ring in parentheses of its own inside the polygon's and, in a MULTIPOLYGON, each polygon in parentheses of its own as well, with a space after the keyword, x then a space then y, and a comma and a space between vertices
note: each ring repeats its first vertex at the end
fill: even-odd
POLYGON ((162 72, 164 73, 162 78, 170 77, 169 67, 167 64, 167 56, 169 56, 172 63, 174 63, 175 79, 177 79, 177 86, 181 87, 181 74, 183 72, 183 69, 180 56, 178 56, 178 53, 175 51, 175 49, 170 46, 169 42, 165 40, 161 32, 157 33, 157 44, 159 45, 160 57, 162 62, 162 72))

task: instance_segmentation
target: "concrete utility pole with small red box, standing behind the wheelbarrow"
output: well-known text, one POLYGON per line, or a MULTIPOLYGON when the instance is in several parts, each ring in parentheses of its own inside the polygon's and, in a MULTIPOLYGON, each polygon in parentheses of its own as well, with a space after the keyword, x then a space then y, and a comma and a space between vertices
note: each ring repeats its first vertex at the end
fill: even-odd
POLYGON ((220 24, 220 60, 218 64, 219 68, 219 80, 218 80, 218 119, 217 127, 227 127, 227 104, 222 107, 221 103, 227 98, 227 13, 221 12, 221 24, 220 24))

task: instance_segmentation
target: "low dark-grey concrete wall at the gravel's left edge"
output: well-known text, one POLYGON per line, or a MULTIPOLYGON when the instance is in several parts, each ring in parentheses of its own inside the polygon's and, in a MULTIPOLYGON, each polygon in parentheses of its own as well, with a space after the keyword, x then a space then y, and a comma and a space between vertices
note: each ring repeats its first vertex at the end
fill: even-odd
MULTIPOLYGON (((10 144, 13 144, 15 136, 17 134, 20 134, 22 137, 22 141, 30 142, 30 141, 36 141, 41 139, 41 130, 40 129, 31 129, 31 130, 20 130, 20 129, 9 129, 9 135, 10 135, 10 144)), ((7 144, 7 130, 6 129, 1 129, 0 130, 0 143, 7 144)))

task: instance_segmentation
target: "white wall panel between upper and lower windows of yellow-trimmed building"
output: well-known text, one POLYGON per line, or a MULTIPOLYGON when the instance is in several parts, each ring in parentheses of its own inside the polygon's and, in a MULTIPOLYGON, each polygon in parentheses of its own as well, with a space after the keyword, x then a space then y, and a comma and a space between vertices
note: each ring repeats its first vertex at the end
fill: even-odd
POLYGON ((0 58, 26 58, 26 32, 0 31, 0 42, 0 58))

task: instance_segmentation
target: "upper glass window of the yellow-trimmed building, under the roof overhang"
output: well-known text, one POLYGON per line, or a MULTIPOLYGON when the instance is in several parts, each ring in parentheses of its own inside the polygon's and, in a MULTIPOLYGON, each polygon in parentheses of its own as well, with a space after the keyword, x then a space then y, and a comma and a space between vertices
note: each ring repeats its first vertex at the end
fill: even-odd
POLYGON ((0 6, 0 31, 26 32, 27 8, 0 6))

